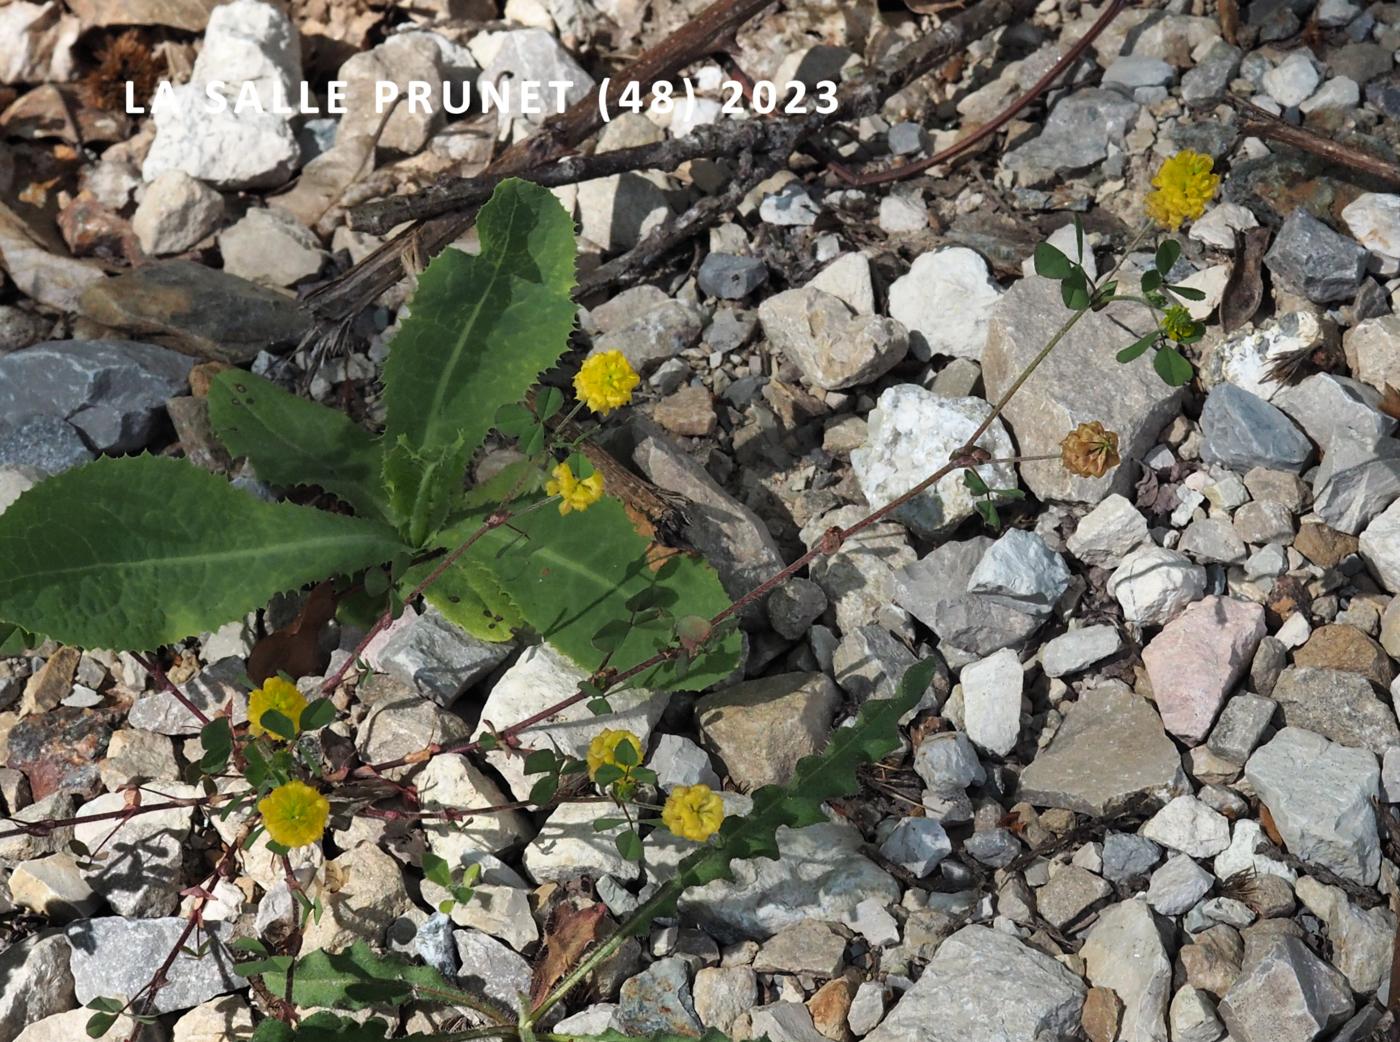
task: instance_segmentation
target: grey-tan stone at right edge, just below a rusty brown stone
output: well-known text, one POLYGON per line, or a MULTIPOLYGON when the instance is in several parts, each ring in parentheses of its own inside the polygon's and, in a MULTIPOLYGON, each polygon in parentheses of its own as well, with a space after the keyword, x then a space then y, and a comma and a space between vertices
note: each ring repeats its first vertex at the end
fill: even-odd
POLYGON ((1376 697, 1361 674, 1291 665, 1280 674, 1274 699, 1289 727, 1316 731, 1341 745, 1371 749, 1378 756, 1400 745, 1394 710, 1376 697))

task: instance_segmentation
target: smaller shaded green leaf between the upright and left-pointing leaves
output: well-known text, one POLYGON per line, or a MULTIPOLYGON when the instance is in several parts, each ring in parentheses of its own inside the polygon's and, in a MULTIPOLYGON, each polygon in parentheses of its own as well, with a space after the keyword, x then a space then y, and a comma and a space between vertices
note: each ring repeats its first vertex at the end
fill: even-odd
POLYGON ((379 444, 349 416, 263 377, 224 370, 209 387, 209 422, 235 457, 272 485, 315 485, 360 514, 389 518, 379 444))

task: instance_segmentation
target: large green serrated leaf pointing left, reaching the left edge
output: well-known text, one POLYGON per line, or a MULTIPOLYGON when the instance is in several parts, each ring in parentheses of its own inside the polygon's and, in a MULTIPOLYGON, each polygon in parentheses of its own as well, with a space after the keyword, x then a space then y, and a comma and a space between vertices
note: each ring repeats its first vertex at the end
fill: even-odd
POLYGON ((148 650, 405 549, 384 524, 265 503, 181 459, 101 458, 0 515, 0 618, 148 650))

